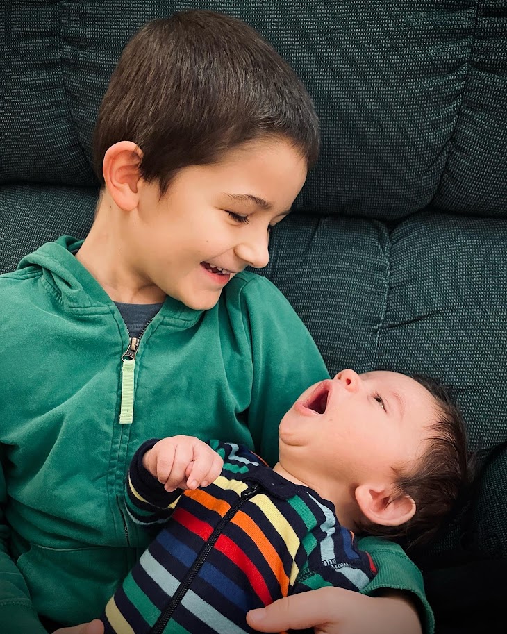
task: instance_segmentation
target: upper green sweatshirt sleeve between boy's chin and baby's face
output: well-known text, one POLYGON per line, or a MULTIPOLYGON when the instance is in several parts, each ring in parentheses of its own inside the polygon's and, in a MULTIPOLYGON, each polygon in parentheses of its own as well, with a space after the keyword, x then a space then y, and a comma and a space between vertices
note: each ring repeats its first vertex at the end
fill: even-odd
POLYGON ((253 362, 248 424, 255 451, 273 466, 283 415, 329 372, 306 326, 267 278, 244 285, 241 314, 253 362))

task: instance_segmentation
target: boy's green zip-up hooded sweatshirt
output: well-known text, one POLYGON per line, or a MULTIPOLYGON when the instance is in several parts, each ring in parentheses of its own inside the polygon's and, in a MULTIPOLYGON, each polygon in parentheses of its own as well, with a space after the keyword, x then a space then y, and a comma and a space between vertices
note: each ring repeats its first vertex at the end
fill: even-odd
MULTIPOLYGON (((153 539, 122 494, 148 438, 238 442, 269 464, 278 425, 328 378, 288 301, 267 279, 236 275, 217 305, 167 297, 135 360, 115 303, 61 237, 0 276, 0 631, 43 634, 99 617, 153 539)), ((432 615, 422 578, 390 542, 365 538, 380 572, 365 589, 409 590, 432 615)))

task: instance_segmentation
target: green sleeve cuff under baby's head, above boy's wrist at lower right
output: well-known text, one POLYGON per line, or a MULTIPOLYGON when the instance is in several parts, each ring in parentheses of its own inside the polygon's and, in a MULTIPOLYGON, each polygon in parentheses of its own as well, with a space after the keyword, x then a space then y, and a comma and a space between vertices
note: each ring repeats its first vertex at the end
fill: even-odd
POLYGON ((398 544, 379 537, 363 537, 359 540, 359 547, 372 556, 379 571, 361 593, 371 597, 379 596, 382 590, 410 592, 413 597, 417 597, 414 603, 419 611, 424 634, 434 634, 435 616, 424 594, 421 571, 404 550, 398 544))

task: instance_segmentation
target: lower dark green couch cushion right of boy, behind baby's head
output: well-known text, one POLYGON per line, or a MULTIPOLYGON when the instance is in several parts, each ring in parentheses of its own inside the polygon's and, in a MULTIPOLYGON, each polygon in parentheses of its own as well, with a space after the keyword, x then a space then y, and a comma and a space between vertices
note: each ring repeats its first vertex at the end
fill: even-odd
POLYGON ((430 567, 436 556, 507 558, 506 235, 507 219, 432 209, 391 230, 294 216, 276 227, 261 272, 290 299, 331 374, 388 368, 454 388, 484 473, 472 507, 425 549, 430 567))

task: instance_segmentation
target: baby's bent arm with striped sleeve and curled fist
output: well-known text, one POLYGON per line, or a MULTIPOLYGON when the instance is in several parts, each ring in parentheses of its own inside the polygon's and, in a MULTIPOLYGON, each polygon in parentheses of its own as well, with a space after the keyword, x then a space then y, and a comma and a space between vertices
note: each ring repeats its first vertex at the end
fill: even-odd
POLYGON ((135 452, 126 480, 125 503, 137 524, 155 524, 171 517, 183 489, 213 482, 222 458, 192 436, 148 440, 135 452))

